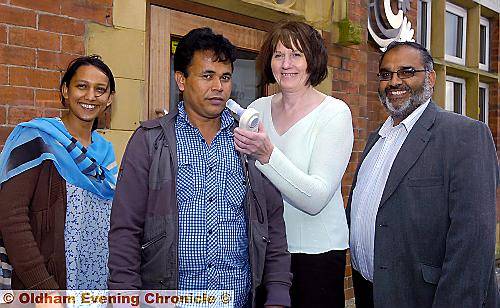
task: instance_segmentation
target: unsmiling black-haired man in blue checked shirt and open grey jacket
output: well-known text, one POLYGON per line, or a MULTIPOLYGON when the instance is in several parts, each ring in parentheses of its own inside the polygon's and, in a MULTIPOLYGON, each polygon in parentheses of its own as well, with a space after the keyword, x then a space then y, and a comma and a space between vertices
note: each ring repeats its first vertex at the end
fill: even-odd
POLYGON ((235 307, 290 306, 281 195, 235 150, 225 108, 235 52, 209 28, 180 40, 183 101, 142 123, 123 157, 110 289, 233 290, 235 307))

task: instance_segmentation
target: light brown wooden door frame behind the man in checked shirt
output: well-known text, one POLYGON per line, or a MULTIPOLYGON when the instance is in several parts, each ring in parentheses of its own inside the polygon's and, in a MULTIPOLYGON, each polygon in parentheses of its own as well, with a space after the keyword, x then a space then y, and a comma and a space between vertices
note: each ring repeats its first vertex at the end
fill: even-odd
POLYGON ((170 87, 170 37, 184 36, 193 28, 207 26, 223 34, 236 47, 258 52, 265 32, 209 17, 197 16, 165 7, 148 7, 148 42, 146 53, 147 104, 143 109, 144 119, 156 117, 156 110, 169 107, 170 87))

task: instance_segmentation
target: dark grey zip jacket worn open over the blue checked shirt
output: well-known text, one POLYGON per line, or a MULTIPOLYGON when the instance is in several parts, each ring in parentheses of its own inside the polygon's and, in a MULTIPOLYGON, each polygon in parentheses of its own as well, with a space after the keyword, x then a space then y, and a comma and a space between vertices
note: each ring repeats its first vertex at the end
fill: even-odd
MULTIPOLYGON (((177 289, 176 116, 175 110, 143 122, 125 150, 111 211, 109 289, 177 289)), ((281 194, 253 159, 240 159, 247 179, 252 307, 258 306, 261 290, 267 293, 265 305, 290 306, 292 274, 281 194)))

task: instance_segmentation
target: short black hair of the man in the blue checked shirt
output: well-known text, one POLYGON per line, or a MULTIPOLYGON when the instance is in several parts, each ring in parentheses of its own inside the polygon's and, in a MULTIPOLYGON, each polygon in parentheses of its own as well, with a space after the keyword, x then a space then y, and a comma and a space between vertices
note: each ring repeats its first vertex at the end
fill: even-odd
POLYGON ((221 34, 215 34, 208 27, 189 31, 177 45, 174 54, 174 71, 188 76, 188 67, 196 51, 213 51, 217 62, 230 62, 231 69, 236 61, 236 47, 221 34))

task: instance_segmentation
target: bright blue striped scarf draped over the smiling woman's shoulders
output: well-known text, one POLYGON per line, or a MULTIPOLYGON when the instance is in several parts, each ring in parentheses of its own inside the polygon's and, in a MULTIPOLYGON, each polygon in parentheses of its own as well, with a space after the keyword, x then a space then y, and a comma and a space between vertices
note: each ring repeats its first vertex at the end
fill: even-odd
POLYGON ((66 182, 113 199, 118 167, 111 143, 93 131, 86 148, 58 118, 36 118, 16 126, 0 154, 0 185, 47 159, 66 182))

